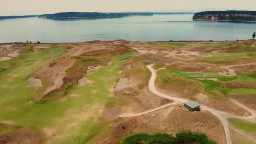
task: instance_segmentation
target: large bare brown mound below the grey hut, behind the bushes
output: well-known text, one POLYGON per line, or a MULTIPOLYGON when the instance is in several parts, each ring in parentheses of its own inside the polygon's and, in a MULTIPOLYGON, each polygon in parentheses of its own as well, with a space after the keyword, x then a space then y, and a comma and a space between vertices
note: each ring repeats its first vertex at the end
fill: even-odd
POLYGON ((209 111, 190 112, 179 106, 170 106, 138 117, 120 118, 110 128, 111 134, 99 138, 95 143, 115 144, 125 135, 141 132, 152 134, 158 131, 175 135, 184 129, 203 132, 219 144, 226 143, 222 124, 209 111))

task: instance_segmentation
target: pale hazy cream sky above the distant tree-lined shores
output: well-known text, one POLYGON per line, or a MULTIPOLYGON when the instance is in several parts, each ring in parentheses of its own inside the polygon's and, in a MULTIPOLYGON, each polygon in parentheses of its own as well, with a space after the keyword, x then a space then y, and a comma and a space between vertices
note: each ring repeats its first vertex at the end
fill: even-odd
POLYGON ((256 0, 0 0, 0 16, 58 12, 256 10, 256 0))

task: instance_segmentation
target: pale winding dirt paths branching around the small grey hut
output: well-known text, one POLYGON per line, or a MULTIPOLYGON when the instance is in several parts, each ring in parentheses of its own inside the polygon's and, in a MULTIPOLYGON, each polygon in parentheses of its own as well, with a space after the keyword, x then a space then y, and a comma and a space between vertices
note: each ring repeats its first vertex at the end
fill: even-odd
MULTIPOLYGON (((148 82, 149 91, 152 94, 154 94, 154 95, 157 95, 157 96, 159 96, 161 98, 166 98, 166 99, 172 100, 174 102, 170 103, 170 104, 167 104, 167 105, 162 105, 162 106, 160 106, 158 108, 154 108, 154 109, 151 109, 149 111, 144 111, 142 113, 138 113, 138 114, 126 113, 126 114, 123 114, 123 115, 119 115, 119 117, 133 117, 133 116, 138 116, 138 115, 144 115, 144 114, 150 113, 152 111, 156 111, 156 110, 159 110, 161 108, 165 108, 165 107, 170 106, 170 105, 174 105, 174 104, 178 104, 178 103, 182 103, 183 104, 183 103, 189 101, 189 100, 187 100, 185 98, 177 98, 177 97, 174 97, 174 96, 164 95, 161 92, 158 92, 158 90, 155 89, 154 82, 155 82, 155 79, 157 77, 157 71, 159 69, 158 70, 154 70, 152 68, 152 65, 154 65, 154 64, 147 65, 148 69, 151 71, 151 78, 150 78, 150 80, 148 82)), ((244 121, 249 121, 249 122, 253 122, 253 123, 256 122, 256 119, 255 119, 256 118, 256 112, 254 110, 246 107, 245 105, 239 103, 238 101, 236 101, 234 99, 231 99, 231 100, 234 103, 236 103, 237 105, 239 105, 240 107, 242 107, 242 108, 246 109, 247 111, 249 111, 252 115, 250 115, 248 117, 231 115, 231 114, 229 114, 227 112, 219 111, 219 110, 216 110, 214 108, 209 108, 206 105, 201 105, 201 109, 210 111, 213 115, 215 115, 217 118, 219 118, 219 120, 223 124, 223 128, 224 128, 224 131, 225 131, 227 144, 232 144, 232 140, 231 140, 231 137, 230 137, 230 131, 229 131, 229 123, 227 121, 228 118, 239 118, 239 119, 242 119, 244 121)), ((234 129, 234 127, 230 127, 230 128, 234 129)), ((237 131, 239 131, 239 130, 237 130, 237 131)), ((244 134, 241 131, 239 131, 239 134, 243 135, 246 138, 249 138, 251 141, 255 141, 253 138, 249 137, 248 135, 244 134)))

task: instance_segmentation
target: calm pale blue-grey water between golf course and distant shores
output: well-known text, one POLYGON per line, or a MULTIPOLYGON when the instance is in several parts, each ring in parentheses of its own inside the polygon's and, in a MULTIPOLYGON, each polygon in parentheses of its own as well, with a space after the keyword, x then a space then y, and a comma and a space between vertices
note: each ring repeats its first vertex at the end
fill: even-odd
POLYGON ((203 22, 191 14, 130 16, 123 18, 0 20, 0 43, 84 42, 126 39, 131 41, 250 39, 256 23, 203 22))

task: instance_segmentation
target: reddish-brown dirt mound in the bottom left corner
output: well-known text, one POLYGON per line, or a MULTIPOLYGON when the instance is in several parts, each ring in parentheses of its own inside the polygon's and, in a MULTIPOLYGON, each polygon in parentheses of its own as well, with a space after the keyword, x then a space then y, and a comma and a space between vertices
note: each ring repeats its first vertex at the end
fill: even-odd
POLYGON ((0 135, 0 144, 43 144, 43 138, 30 131, 15 131, 0 135))

